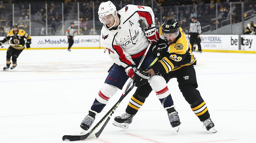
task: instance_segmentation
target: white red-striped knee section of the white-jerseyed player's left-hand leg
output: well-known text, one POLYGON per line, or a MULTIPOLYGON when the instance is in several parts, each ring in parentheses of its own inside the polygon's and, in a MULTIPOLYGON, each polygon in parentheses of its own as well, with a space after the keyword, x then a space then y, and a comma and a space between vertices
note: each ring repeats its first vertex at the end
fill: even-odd
POLYGON ((98 92, 96 99, 100 103, 107 104, 107 101, 117 92, 117 90, 117 87, 105 83, 98 92))

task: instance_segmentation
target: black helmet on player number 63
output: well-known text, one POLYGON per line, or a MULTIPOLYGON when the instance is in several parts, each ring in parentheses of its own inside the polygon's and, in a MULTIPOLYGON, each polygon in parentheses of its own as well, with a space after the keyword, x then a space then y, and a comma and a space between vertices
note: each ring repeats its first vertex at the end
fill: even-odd
POLYGON ((163 22, 162 32, 163 33, 175 33, 180 30, 180 23, 177 19, 168 18, 163 22))

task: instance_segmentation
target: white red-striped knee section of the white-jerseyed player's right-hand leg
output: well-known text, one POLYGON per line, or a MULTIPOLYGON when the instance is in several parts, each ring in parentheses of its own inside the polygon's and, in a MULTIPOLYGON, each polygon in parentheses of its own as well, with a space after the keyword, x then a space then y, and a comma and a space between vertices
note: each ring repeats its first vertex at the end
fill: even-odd
POLYGON ((163 99, 170 94, 166 81, 162 76, 151 76, 149 78, 149 84, 156 92, 159 99, 163 99))

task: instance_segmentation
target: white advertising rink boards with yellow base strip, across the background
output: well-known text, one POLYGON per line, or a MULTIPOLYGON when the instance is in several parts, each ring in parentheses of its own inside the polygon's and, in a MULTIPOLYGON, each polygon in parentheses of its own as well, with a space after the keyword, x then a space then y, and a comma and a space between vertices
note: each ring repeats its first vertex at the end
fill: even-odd
MULTIPOLYGON (((0 37, 3 39, 4 37, 0 37)), ((31 36, 31 49, 66 49, 68 38, 65 35, 31 36)), ((76 35, 73 49, 103 49, 100 35, 76 35)), ((256 53, 256 35, 201 35, 203 51, 256 53)), ((4 45, 0 50, 6 50, 4 45)))

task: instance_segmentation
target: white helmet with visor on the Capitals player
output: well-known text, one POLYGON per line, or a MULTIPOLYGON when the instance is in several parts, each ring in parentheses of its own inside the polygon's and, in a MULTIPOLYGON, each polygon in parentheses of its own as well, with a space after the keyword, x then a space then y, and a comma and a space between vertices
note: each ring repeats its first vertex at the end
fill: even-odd
MULTIPOLYGON (((107 16, 112 14, 115 17, 115 23, 116 23, 116 19, 117 19, 117 11, 116 11, 116 7, 115 5, 109 0, 107 2, 102 2, 99 7, 98 7, 98 19, 100 20, 101 23, 104 24, 104 26, 106 27, 106 24, 104 23, 104 21, 101 19, 101 17, 103 16, 107 16)), ((113 24, 113 26, 115 25, 115 23, 113 24)), ((112 27, 113 27, 112 26, 112 27)), ((110 29, 112 27, 109 27, 107 29, 110 29)))

